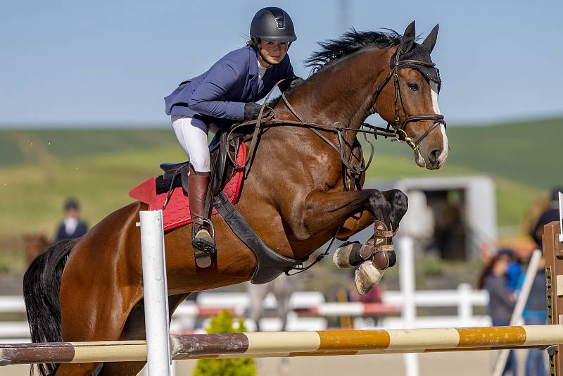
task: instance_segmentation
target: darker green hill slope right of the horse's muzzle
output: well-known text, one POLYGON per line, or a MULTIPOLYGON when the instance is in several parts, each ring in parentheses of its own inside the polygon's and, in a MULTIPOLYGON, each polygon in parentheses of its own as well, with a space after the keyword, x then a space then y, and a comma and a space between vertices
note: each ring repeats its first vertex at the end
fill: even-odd
MULTIPOLYGON (((450 156, 444 170, 459 166, 540 189, 563 184, 563 118, 448 127, 447 133, 450 156)), ((412 159, 409 149, 391 142, 378 142, 377 151, 405 161, 412 159)))

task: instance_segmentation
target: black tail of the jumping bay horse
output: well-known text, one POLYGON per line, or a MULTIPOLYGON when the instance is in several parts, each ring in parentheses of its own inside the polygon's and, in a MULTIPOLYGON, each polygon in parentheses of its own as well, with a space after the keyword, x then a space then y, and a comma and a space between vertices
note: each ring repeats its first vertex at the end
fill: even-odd
MULTIPOLYGON (((58 301, 61 277, 75 240, 53 244, 37 256, 23 276, 23 299, 34 342, 61 342, 61 305, 58 301)), ((51 375, 57 365, 38 365, 39 374, 51 375)))

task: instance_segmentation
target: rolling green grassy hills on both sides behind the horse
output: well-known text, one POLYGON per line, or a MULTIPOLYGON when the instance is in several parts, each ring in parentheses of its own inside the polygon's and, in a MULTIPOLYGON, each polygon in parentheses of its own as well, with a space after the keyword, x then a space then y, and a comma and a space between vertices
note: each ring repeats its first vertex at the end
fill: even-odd
MULTIPOLYGON (((518 226, 552 184, 563 182, 562 125, 553 119, 450 127, 450 159, 438 171, 417 168, 405 144, 379 139, 369 179, 491 175, 499 224, 518 226)), ((0 131, 0 251, 19 253, 25 233, 52 237, 65 197, 76 196, 93 225, 131 202, 129 189, 158 174, 159 163, 184 159, 171 129, 0 131)))

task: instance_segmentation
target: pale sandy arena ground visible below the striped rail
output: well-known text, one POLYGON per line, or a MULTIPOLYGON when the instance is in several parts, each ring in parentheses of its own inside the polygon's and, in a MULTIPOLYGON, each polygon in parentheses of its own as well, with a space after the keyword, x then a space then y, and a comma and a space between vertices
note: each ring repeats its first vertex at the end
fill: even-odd
MULTIPOLYGON (((521 374, 526 351, 517 351, 521 374)), ((491 375, 495 351, 424 353, 418 355, 419 376, 491 375)), ((174 376, 189 376, 196 361, 178 361, 174 376)), ((319 356, 308 358, 256 359, 258 376, 403 376, 403 355, 319 356)), ((27 365, 0 368, 2 376, 29 375, 27 365)), ((139 375, 145 375, 141 372, 139 375)))

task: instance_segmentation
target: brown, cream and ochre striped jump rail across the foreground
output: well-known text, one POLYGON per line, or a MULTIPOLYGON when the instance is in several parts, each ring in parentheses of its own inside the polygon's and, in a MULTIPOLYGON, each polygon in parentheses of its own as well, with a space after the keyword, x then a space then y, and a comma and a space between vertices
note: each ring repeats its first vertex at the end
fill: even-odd
MULTIPOLYGON (((547 348, 563 326, 253 332, 170 336, 172 358, 269 358, 547 348)), ((146 361, 146 341, 0 344, 0 365, 146 361)))

